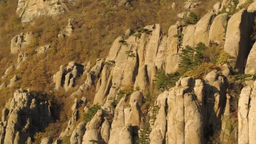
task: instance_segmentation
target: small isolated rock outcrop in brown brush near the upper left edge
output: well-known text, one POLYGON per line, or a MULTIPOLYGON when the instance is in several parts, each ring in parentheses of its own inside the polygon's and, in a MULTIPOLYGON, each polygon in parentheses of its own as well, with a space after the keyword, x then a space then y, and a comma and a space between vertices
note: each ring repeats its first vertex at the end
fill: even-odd
POLYGON ((32 38, 32 32, 27 32, 26 34, 21 33, 13 37, 13 39, 11 39, 11 53, 18 53, 24 50, 31 43, 32 38))

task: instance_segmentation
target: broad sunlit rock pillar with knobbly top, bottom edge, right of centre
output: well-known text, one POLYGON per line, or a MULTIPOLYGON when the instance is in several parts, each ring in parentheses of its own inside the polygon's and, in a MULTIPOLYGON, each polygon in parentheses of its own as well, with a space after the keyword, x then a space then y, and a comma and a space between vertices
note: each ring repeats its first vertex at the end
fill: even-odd
MULTIPOLYGON (((203 114, 197 105, 195 79, 186 77, 168 92, 168 144, 203 144, 203 114)), ((198 95, 199 97, 199 95, 198 95)))

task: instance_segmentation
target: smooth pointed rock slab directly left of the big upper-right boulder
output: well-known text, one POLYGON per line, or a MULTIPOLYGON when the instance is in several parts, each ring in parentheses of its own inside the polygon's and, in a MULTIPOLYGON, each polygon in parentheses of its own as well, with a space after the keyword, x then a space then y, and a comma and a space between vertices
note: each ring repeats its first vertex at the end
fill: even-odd
POLYGON ((209 43, 217 43, 218 45, 224 45, 225 26, 227 25, 227 13, 222 13, 216 16, 213 20, 211 28, 209 30, 209 43))

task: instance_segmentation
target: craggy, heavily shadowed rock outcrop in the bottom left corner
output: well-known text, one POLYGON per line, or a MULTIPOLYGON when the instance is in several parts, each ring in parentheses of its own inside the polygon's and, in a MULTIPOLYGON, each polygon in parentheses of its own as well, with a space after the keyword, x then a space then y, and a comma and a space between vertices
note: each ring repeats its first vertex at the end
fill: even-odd
POLYGON ((1 144, 25 144, 35 132, 42 130, 50 122, 53 122, 53 117, 49 104, 38 101, 36 96, 19 89, 3 109, 0 122, 3 130, 0 133, 1 144))

